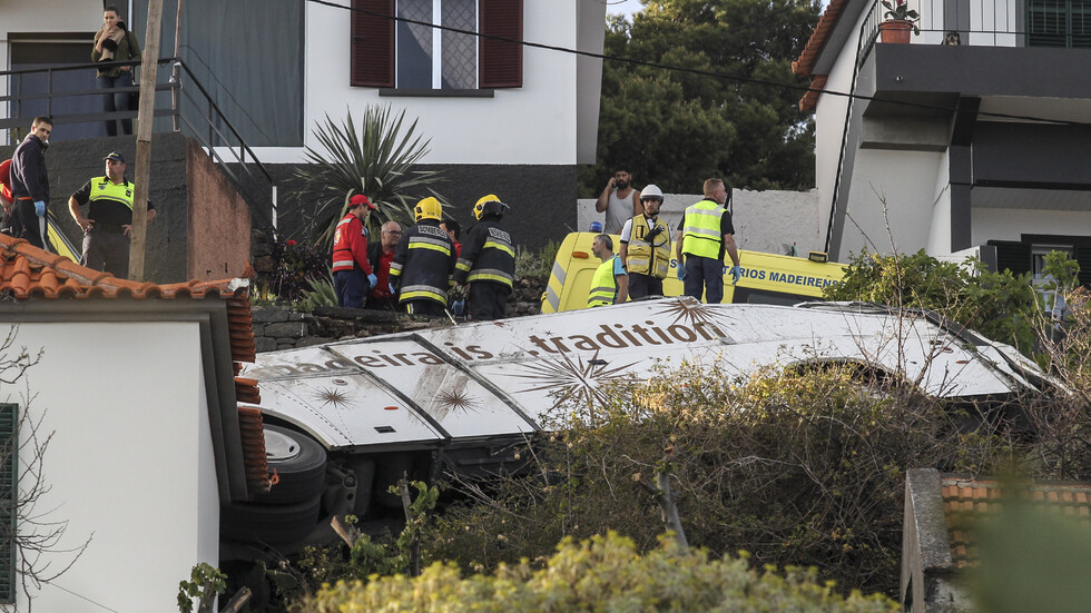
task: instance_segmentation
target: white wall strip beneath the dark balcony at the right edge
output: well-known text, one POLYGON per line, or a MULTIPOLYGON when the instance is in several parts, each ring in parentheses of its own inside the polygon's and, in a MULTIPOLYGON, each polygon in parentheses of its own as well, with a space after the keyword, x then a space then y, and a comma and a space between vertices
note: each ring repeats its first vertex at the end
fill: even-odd
POLYGON ((1023 234, 1091 236, 1089 211, 973 207, 970 216, 971 245, 1022 240, 1023 234))

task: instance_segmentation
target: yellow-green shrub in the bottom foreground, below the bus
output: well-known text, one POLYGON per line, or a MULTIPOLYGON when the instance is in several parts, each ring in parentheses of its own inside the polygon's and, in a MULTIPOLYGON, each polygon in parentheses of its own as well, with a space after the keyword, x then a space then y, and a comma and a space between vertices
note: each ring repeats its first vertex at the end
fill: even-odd
POLYGON ((667 540, 645 555, 610 533, 564 540, 534 570, 522 561, 491 575, 463 577, 453 564, 433 564, 416 579, 373 577, 325 587, 296 611, 733 611, 892 612, 882 595, 842 597, 814 570, 750 570, 745 557, 711 560, 679 552, 667 540))

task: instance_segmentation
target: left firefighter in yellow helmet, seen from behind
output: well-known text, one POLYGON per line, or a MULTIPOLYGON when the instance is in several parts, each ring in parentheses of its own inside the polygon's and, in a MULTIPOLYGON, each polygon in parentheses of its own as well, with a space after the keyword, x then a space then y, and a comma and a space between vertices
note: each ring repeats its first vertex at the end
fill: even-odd
POLYGON ((424 198, 413 209, 416 225, 405 230, 390 265, 391 293, 414 315, 443 315, 448 290, 454 285, 458 255, 448 233, 440 227, 443 207, 424 198))

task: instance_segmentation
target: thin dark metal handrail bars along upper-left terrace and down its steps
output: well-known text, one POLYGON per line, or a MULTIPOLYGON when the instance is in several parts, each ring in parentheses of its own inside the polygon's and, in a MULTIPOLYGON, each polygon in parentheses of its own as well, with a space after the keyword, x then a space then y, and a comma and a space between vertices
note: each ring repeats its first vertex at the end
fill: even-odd
MULTIPOLYGON (((204 121, 207 123, 208 127, 207 138, 204 136, 206 134, 206 130, 199 129, 197 126, 194 126, 193 122, 190 122, 185 117, 185 115, 183 115, 177 103, 178 97, 171 97, 171 106, 169 109, 155 109, 154 111, 155 116, 175 117, 176 119, 179 119, 183 123, 185 123, 190 131, 190 136, 195 140, 197 140, 197 142, 200 145, 202 148, 204 148, 207 151, 208 156, 213 158, 213 160, 217 164, 217 166, 219 166, 220 170, 223 170, 224 174, 227 175, 228 178, 230 178, 230 180, 234 181, 240 190, 245 191, 243 185, 243 177, 230 169, 230 167, 228 166, 228 161, 223 158, 220 152, 217 150, 217 145, 216 145, 217 138, 220 142, 225 142, 225 144, 237 141, 238 142, 237 146, 226 145, 226 148, 230 152, 235 162, 239 165, 242 171, 249 178, 256 178, 256 176, 250 169, 250 166, 252 165, 257 166, 258 170, 265 177, 265 179, 268 181, 272 188, 271 195, 266 196, 264 192, 262 192, 262 196, 265 198, 266 204, 271 205, 272 219, 269 219, 269 225, 275 230, 277 226, 277 185, 276 185, 276 180, 273 179, 273 176, 269 174, 268 169, 265 168, 265 165, 262 164, 261 159, 258 159, 254 150, 249 147, 249 145, 246 144, 246 140, 238 132, 238 130, 227 118, 227 116, 223 112, 219 106, 216 105, 216 102, 213 100, 212 95, 208 92, 207 89, 205 89, 205 86, 200 82, 200 80, 196 77, 196 75, 193 73, 189 67, 186 66, 185 61, 183 61, 180 58, 160 58, 159 60, 157 60, 157 62, 159 65, 170 65, 173 67, 179 67, 184 70, 186 75, 185 79, 176 80, 175 77, 171 77, 170 81, 167 83, 157 83, 156 91, 180 91, 185 100, 191 103, 194 108, 205 109, 202 112, 199 112, 199 117, 204 119, 204 121), (186 87, 183 83, 183 80, 186 83, 197 87, 197 90, 199 91, 198 98, 200 98, 202 100, 198 100, 189 95, 189 92, 186 90, 186 87), (222 130, 220 127, 223 127, 224 129, 222 130), (236 152, 236 147, 238 148, 238 152, 236 152), (249 160, 246 159, 247 154, 249 155, 249 160)), ((136 62, 136 61, 89 62, 89 63, 78 63, 78 65, 66 63, 66 65, 51 65, 45 67, 26 68, 26 69, 17 69, 17 70, 0 70, 0 78, 16 77, 17 79, 21 79, 23 76, 27 75, 36 75, 36 73, 40 75, 43 72, 49 75, 48 88, 45 93, 39 93, 39 92, 36 93, 20 92, 14 95, 9 93, 7 96, 0 97, 0 102, 9 102, 9 103, 13 102, 16 105, 19 105, 23 100, 46 99, 47 115, 50 115, 53 121, 58 125, 86 123, 86 122, 98 122, 98 121, 114 120, 114 119, 135 118, 138 115, 138 111, 136 109, 125 110, 125 111, 99 112, 99 113, 85 112, 85 113, 77 113, 77 115, 53 115, 51 112, 51 107, 52 107, 52 100, 55 98, 101 96, 102 90, 94 89, 94 90, 55 92, 52 91, 51 75, 55 71, 61 71, 61 70, 88 70, 88 69, 99 70, 102 68, 115 67, 115 66, 139 66, 139 63, 140 62, 136 62)), ((126 91, 135 92, 139 90, 140 88, 137 86, 115 88, 115 91, 117 92, 126 92, 126 91)), ((20 126, 29 126, 31 120, 32 118, 21 117, 18 112, 16 112, 13 113, 12 117, 0 118, 0 129, 12 129, 12 128, 18 128, 20 126)))

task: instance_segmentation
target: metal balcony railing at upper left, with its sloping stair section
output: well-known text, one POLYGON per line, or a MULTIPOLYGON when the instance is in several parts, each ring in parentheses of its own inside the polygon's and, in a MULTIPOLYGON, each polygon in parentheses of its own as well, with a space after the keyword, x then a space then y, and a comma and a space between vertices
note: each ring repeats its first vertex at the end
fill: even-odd
MULTIPOLYGON (((268 170, 246 144, 238 130, 216 105, 205 86, 179 58, 158 61, 160 82, 156 83, 155 131, 180 131, 193 138, 232 180, 235 189, 245 198, 257 198, 261 205, 252 207, 262 223, 276 229, 277 186, 268 170), (159 92, 170 92, 169 100, 159 92)), ((137 109, 124 111, 94 111, 101 108, 101 97, 117 92, 138 92, 139 87, 120 87, 112 90, 62 89, 57 76, 65 71, 90 71, 104 66, 139 66, 139 62, 98 62, 86 65, 47 66, 33 69, 0 70, 0 79, 7 81, 7 93, 0 96, 0 105, 8 112, 0 117, 0 132, 7 130, 14 144, 22 139, 36 116, 48 115, 55 126, 104 123, 118 119, 135 119, 137 109), (42 85, 42 78, 45 83, 42 85), (28 87, 33 83, 33 87, 28 87)), ((65 80, 71 82, 71 80, 65 80)), ((88 81, 92 85, 94 81, 88 81)))

